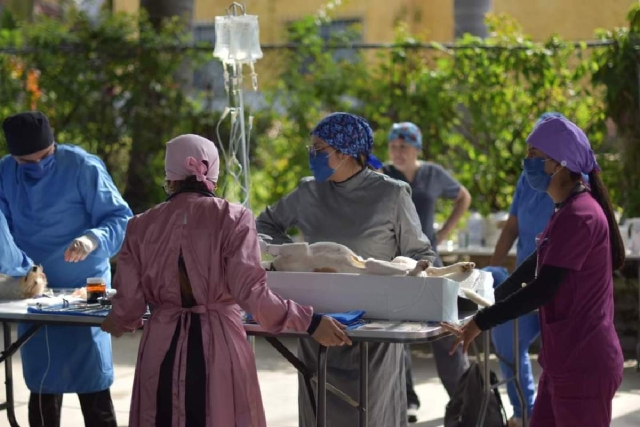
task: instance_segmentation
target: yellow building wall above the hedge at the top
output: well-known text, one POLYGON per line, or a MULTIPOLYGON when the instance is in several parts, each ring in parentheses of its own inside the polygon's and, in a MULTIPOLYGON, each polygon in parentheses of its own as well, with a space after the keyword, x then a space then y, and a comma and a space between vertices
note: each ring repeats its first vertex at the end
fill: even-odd
MULTIPOLYGON (((231 1, 194 0, 194 20, 212 22, 231 1)), ((139 0, 114 0, 114 10, 135 12, 139 0)), ((315 13, 326 0, 245 0, 251 15, 260 17, 262 43, 283 40, 287 22, 315 13)), ((453 40, 453 0, 344 0, 337 18, 359 18, 365 43, 393 41, 394 23, 406 21, 428 40, 453 40), (416 18, 419 18, 417 20, 416 18)), ((493 12, 513 16, 534 40, 559 34, 568 40, 592 39, 597 28, 625 24, 634 0, 493 0, 493 12)))

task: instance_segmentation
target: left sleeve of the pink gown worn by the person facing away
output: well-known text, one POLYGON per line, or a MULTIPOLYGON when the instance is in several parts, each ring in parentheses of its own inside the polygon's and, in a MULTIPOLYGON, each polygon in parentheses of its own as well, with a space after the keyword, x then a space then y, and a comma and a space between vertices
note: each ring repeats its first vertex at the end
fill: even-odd
POLYGON ((111 320, 124 331, 133 332, 142 326, 142 316, 147 311, 147 301, 140 283, 140 262, 134 245, 133 221, 127 225, 127 233, 118 255, 118 265, 113 287, 111 320))

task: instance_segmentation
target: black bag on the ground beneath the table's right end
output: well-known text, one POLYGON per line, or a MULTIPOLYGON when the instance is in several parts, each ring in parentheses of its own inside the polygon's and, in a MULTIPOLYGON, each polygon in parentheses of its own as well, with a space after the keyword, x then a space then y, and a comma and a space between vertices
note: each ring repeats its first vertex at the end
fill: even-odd
MULTIPOLYGON (((498 377, 491 371, 491 385, 498 383, 498 377)), ((455 393, 447 404, 444 415, 444 427, 475 427, 480 417, 484 381, 480 365, 472 363, 462 375, 455 393)), ((507 414, 502 405, 498 388, 494 388, 489 396, 489 405, 483 427, 506 427, 507 414)))

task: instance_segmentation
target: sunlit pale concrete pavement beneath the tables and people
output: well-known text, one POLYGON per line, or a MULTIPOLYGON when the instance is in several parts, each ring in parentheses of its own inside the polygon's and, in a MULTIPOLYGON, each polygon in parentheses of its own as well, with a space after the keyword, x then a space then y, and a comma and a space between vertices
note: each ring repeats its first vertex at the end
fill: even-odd
MULTIPOLYGON (((126 426, 128 420, 133 373, 141 333, 127 335, 113 340, 116 381, 111 388, 114 405, 120 426, 126 426)), ((295 342, 286 341, 289 348, 295 349, 295 342)), ((262 339, 256 340, 256 356, 260 388, 269 427, 296 427, 298 425, 297 373, 271 346, 262 339)), ((497 363, 494 361, 497 372, 497 363)), ((613 427, 640 426, 640 373, 635 372, 634 363, 625 368, 624 381, 613 402, 613 427)), ((429 346, 417 346, 413 351, 414 377, 416 390, 422 401, 419 422, 416 427, 440 427, 447 394, 436 375, 435 363, 429 354, 429 346)), ((536 375, 540 369, 534 361, 536 375)), ((27 402, 29 391, 22 379, 22 366, 19 356, 14 358, 16 412, 21 426, 27 423, 27 402)), ((0 372, 4 383, 4 367, 0 372)), ((503 401, 508 402, 506 393, 501 390, 503 401)), ((0 387, 0 401, 5 400, 4 387, 0 387)), ((508 413, 510 407, 507 408, 508 413)), ((510 414, 509 414, 510 415, 510 414)), ((6 414, 0 412, 0 426, 8 426, 6 414)), ((63 402, 63 426, 83 425, 80 404, 75 395, 66 395, 63 402)))

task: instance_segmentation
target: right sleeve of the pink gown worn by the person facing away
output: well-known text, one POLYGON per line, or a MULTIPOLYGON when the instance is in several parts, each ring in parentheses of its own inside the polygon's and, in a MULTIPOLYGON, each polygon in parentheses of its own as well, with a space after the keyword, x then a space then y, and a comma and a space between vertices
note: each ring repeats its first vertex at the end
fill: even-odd
POLYGON ((260 265, 255 220, 244 210, 223 248, 227 288, 236 302, 268 332, 304 332, 313 309, 283 300, 267 286, 267 272, 260 265))

